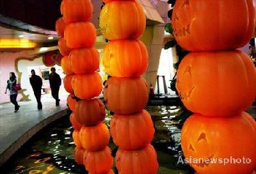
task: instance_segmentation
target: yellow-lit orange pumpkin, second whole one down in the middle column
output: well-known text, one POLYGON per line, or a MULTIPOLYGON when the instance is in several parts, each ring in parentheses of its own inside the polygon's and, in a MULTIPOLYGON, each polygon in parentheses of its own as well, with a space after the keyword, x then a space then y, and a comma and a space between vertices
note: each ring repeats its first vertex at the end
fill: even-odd
POLYGON ((147 47, 140 40, 115 40, 103 51, 102 62, 113 77, 138 77, 148 67, 147 47))

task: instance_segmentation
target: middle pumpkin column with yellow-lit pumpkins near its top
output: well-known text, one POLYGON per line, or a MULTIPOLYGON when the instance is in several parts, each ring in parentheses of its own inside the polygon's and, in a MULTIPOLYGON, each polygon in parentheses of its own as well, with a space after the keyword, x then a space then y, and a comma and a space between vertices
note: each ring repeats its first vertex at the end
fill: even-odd
POLYGON ((141 77, 147 70, 148 53, 138 40, 145 30, 145 13, 136 1, 104 1, 100 29, 110 40, 103 51, 103 64, 111 78, 104 86, 106 106, 115 113, 111 136, 119 147, 116 167, 119 173, 157 173, 154 125, 143 110, 148 86, 141 77))

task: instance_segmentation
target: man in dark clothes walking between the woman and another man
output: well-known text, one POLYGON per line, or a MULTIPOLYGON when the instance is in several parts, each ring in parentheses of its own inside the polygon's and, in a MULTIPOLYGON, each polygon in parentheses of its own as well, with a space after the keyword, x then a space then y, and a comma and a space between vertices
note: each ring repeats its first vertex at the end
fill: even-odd
POLYGON ((29 78, 30 84, 33 88, 35 97, 36 97, 36 102, 37 102, 37 109, 41 110, 42 109, 42 103, 41 103, 41 89, 42 89, 42 79, 38 75, 36 75, 35 70, 31 70, 31 77, 29 78))

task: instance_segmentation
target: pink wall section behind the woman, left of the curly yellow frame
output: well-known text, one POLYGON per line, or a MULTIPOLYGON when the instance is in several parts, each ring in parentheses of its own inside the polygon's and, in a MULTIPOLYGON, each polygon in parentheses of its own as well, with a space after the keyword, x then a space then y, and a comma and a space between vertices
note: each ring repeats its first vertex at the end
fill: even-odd
MULTIPOLYGON (((24 52, 15 52, 15 53, 0 53, 0 103, 9 102, 9 95, 4 94, 6 88, 6 82, 9 79, 10 72, 15 71, 15 59, 20 57, 31 57, 24 52)), ((18 96, 18 100, 20 96, 18 96)))

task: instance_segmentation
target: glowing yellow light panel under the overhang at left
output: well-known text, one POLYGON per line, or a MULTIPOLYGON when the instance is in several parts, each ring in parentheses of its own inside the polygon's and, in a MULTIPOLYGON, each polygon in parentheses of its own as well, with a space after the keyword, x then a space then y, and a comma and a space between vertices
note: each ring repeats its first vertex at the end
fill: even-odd
POLYGON ((5 39, 0 38, 0 48, 35 48, 36 43, 26 38, 21 39, 5 39))

